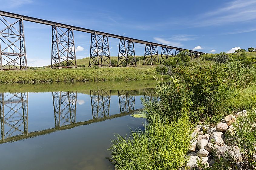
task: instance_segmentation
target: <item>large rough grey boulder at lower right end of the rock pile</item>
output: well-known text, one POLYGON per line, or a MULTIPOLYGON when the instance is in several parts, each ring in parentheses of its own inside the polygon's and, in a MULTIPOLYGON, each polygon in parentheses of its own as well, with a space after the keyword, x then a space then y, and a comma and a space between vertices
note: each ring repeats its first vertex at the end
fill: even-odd
POLYGON ((221 146, 215 153, 216 158, 223 157, 226 160, 234 160, 235 162, 241 162, 243 160, 238 146, 221 146))

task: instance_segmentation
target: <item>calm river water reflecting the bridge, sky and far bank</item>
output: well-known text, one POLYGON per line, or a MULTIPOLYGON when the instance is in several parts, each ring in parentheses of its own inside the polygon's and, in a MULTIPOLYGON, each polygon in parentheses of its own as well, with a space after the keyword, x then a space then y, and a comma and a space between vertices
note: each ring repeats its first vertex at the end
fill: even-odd
POLYGON ((0 169, 114 169, 114 133, 143 129, 129 114, 154 82, 1 85, 0 169))

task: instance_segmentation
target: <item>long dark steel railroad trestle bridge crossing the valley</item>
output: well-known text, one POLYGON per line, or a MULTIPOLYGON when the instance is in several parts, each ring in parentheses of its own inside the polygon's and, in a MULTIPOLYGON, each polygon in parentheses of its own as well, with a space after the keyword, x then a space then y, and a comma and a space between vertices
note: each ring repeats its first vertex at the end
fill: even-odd
MULTIPOLYGON (((111 66, 108 37, 120 40, 118 66, 136 66, 134 43, 145 44, 143 64, 163 63, 168 57, 176 56, 182 50, 186 50, 165 44, 0 11, 0 27, 5 27, 0 30, 0 70, 26 70, 28 68, 23 21, 52 26, 52 68, 77 66, 74 30, 91 34, 89 66, 111 66), (8 18, 17 20, 11 23, 8 18), (158 47, 161 48, 161 56, 158 54, 158 47)), ((203 53, 188 50, 188 55, 191 59, 197 58, 201 54, 203 53)))

